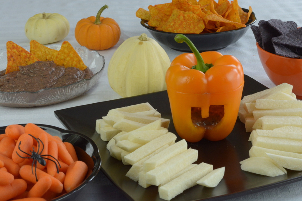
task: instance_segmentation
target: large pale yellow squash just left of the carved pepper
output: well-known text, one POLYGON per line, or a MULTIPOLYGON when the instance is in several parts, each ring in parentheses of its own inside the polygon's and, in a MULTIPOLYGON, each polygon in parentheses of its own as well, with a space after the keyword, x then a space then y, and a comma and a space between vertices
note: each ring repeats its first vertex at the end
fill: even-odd
POLYGON ((108 64, 111 88, 122 97, 166 90, 171 62, 165 50, 145 33, 126 39, 108 64))

